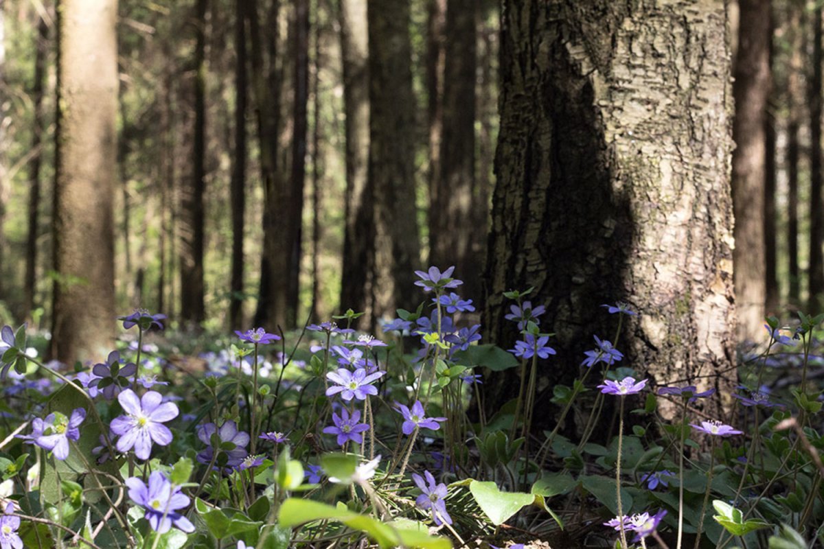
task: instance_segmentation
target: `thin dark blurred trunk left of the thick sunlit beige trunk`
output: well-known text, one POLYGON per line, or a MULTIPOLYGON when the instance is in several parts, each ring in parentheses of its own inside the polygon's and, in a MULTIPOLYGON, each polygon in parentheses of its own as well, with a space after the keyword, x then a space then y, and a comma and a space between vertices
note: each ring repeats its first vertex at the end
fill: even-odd
POLYGON ((49 51, 49 26, 41 16, 37 25, 37 51, 35 52, 35 79, 31 86, 33 119, 31 123, 31 150, 29 161, 29 219, 26 235, 26 281, 23 316, 31 318, 35 309, 37 291, 37 237, 40 231, 40 165, 43 161, 43 88, 46 79, 46 55, 49 51))

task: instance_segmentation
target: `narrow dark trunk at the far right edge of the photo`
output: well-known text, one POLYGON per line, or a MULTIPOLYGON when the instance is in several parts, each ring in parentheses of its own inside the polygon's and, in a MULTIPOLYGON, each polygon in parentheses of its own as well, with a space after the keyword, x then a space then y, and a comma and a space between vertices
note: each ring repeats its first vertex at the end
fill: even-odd
POLYGON ((810 105, 810 286, 808 312, 818 314, 824 299, 824 202, 822 202, 822 8, 812 15, 810 105))

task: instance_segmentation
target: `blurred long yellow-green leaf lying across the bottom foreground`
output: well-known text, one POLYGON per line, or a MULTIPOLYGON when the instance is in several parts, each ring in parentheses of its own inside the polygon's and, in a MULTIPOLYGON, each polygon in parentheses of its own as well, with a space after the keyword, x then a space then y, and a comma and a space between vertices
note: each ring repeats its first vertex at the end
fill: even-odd
POLYGON ((336 520, 353 530, 366 533, 380 547, 404 546, 419 549, 451 549, 452 543, 442 537, 431 537, 418 529, 393 527, 362 514, 353 513, 345 506, 333 507, 319 501, 288 498, 283 501, 278 513, 278 523, 285 527, 315 520, 336 520))

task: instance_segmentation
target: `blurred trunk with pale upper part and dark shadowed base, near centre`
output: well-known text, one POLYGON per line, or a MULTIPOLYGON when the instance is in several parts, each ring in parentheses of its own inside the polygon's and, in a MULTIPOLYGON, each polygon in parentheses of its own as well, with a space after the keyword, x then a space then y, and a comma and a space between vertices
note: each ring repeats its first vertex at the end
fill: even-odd
POLYGON ((339 0, 340 49, 344 73, 346 121, 346 193, 344 254, 340 309, 366 313, 372 294, 372 190, 367 185, 369 163, 369 70, 366 0, 339 0))

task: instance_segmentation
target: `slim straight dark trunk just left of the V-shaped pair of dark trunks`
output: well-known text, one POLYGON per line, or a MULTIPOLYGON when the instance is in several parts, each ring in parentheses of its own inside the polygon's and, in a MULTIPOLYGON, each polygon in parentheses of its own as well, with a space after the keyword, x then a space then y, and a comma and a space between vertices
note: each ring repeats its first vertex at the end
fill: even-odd
POLYGON ((235 154, 232 165, 232 297, 229 323, 243 328, 243 228, 246 216, 246 0, 235 0, 235 154))

